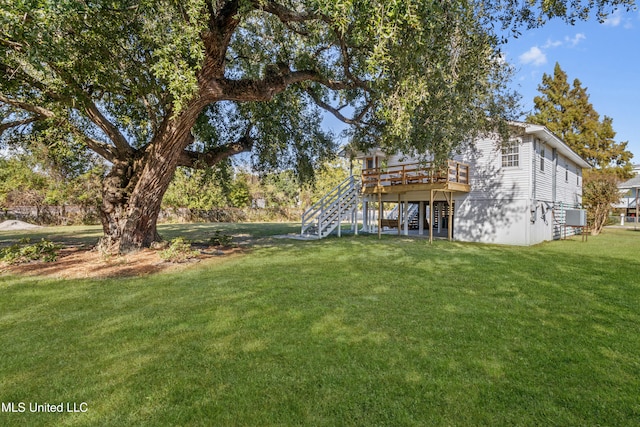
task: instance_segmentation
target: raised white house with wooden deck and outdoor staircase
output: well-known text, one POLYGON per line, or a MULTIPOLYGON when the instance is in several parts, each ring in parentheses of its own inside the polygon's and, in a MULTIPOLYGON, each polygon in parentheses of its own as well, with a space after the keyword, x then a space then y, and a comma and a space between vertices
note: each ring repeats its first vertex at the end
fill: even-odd
POLYGON ((580 206, 582 169, 589 164, 544 126, 513 127, 508 144, 479 139, 445 165, 380 150, 361 153, 361 183, 352 178, 323 206, 307 211, 303 234, 328 234, 335 229, 331 212, 353 215, 358 200, 365 232, 397 228, 401 234, 510 245, 572 233, 565 214, 580 206), (385 218, 382 212, 391 205, 399 209, 385 218), (320 218, 323 211, 329 215, 320 218))

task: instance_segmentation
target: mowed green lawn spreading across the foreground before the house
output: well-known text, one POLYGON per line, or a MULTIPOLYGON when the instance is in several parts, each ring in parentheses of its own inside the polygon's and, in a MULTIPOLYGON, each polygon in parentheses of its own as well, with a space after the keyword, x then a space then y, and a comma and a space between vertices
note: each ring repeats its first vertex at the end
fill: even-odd
POLYGON ((640 425, 638 253, 627 230, 352 236, 145 278, 0 276, 0 402, 27 403, 0 424, 640 425))

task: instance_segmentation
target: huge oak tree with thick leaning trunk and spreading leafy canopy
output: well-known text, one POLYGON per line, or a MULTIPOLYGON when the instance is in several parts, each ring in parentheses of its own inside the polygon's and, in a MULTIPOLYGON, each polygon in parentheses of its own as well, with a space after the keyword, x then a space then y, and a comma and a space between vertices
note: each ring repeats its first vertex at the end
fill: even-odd
POLYGON ((178 166, 309 170, 352 138, 445 156, 510 107, 493 28, 632 0, 0 0, 0 133, 62 130, 110 165, 102 246, 158 239, 178 166), (488 119, 488 120, 487 120, 488 119))

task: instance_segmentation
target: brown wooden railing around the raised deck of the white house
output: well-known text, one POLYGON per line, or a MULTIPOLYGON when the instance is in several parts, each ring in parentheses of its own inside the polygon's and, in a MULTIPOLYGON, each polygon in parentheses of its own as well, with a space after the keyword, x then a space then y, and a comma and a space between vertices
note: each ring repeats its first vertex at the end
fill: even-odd
POLYGON ((445 182, 469 184, 469 165, 448 160, 440 166, 431 163, 407 163, 383 169, 362 170, 363 188, 445 182))

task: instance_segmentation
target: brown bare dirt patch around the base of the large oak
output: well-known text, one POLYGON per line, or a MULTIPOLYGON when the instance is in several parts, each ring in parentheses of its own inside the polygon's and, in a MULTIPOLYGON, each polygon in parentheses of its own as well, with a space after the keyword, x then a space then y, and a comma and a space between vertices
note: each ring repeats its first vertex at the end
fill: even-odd
POLYGON ((60 250, 54 262, 35 261, 27 264, 0 263, 0 273, 52 278, 81 279, 135 277, 189 268, 195 263, 214 258, 224 258, 243 252, 242 248, 198 248, 200 255, 184 263, 171 263, 160 258, 159 251, 144 249, 127 255, 104 256, 86 248, 60 250))

